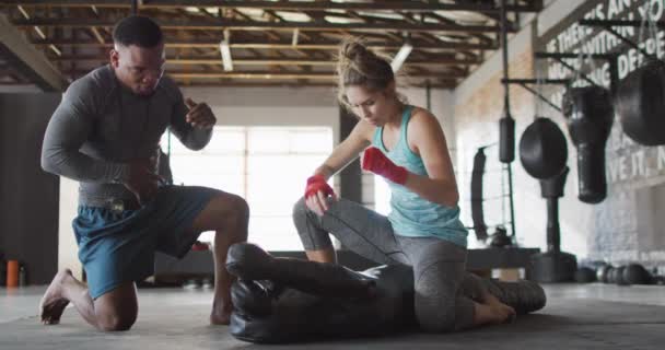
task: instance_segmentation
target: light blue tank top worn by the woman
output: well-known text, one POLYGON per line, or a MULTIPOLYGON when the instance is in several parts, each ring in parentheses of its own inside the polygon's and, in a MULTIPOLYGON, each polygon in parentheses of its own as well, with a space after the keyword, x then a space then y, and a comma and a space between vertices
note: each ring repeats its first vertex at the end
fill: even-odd
MULTIPOLYGON (((372 145, 380 149, 393 163, 418 175, 428 175, 422 158, 409 149, 407 125, 412 106, 406 106, 399 127, 399 140, 392 151, 383 144, 383 127, 376 128, 372 145)), ((388 220, 396 234, 409 237, 438 237, 466 247, 468 232, 459 221, 459 207, 431 202, 401 185, 387 182, 390 187, 388 220)))

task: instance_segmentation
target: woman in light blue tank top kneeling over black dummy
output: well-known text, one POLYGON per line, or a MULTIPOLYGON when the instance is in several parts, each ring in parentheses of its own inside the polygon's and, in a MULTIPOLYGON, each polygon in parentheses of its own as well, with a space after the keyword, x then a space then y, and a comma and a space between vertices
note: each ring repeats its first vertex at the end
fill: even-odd
POLYGON ((339 102, 358 116, 349 137, 307 179, 293 219, 307 258, 335 262, 329 234, 378 264, 406 264, 415 272, 415 310, 428 331, 502 323, 515 311, 489 293, 481 302, 462 295, 467 231, 445 137, 428 110, 407 105, 387 60, 360 42, 342 43, 339 102), (369 147, 369 148, 368 148, 369 147), (364 150, 362 166, 385 177, 388 217, 339 199, 326 180, 364 150))

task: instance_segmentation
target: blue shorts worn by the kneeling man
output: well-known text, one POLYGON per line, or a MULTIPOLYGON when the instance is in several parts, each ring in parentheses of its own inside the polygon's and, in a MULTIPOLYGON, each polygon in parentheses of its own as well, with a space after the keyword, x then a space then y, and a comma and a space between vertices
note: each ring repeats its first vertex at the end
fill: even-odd
POLYGON ((90 295, 96 299, 153 275, 155 250, 185 256, 200 234, 190 230, 195 218, 219 194, 207 187, 165 186, 138 210, 80 206, 72 225, 90 295))

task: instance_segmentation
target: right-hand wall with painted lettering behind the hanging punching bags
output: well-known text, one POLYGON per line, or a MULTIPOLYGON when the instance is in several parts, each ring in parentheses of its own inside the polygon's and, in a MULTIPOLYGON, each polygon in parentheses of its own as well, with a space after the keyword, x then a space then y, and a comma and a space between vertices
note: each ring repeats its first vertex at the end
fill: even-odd
MULTIPOLYGON (((612 2, 614 3, 614 2, 612 2)), ((658 2, 660 3, 660 2, 658 2)), ((610 7, 608 0, 584 2, 584 5, 571 8, 569 2, 558 1, 548 14, 539 15, 537 30, 527 40, 511 39, 510 72, 512 78, 544 78, 561 79, 574 77, 565 69, 552 69, 552 61, 533 61, 533 50, 574 52, 582 38, 571 33, 581 18, 594 18, 599 14, 607 18, 614 11, 617 20, 640 19, 637 8, 610 7), (561 3, 561 5, 558 5, 561 3), (555 11, 556 10, 556 11, 555 11), (604 12, 605 11, 605 12, 604 12), (552 15, 556 12, 557 15, 552 15), (606 13, 607 12, 607 13, 606 13), (616 12, 616 13, 615 13, 616 12), (552 21, 557 18, 557 21, 552 21), (544 23, 547 22, 547 25, 544 23), (550 23, 551 22, 551 23, 550 23), (572 42, 571 42, 572 40, 572 42), (578 42, 574 42, 578 40, 578 42), (520 42, 520 43, 514 43, 520 42), (524 45, 524 43, 530 45, 524 45), (518 47, 518 49, 516 49, 518 47), (537 63, 537 65, 536 65, 537 63), (542 65, 542 66, 540 66, 542 65), (547 65, 547 66, 546 66, 547 65), (538 67, 536 67, 538 66, 538 67), (542 72, 542 73, 536 73, 542 72), (549 75, 548 75, 549 74, 549 75)), ((661 9, 661 8, 658 8, 661 9)), ((658 12, 657 20, 665 18, 665 11, 658 12)), ((529 31, 527 26, 521 33, 529 31)), ((575 32, 576 31, 576 32, 575 32)), ((618 57, 619 79, 638 67, 631 63, 634 49, 621 43, 605 32, 585 32, 587 47, 593 54, 603 54, 608 49, 616 50, 618 57), (596 45, 598 44, 598 45, 596 45), (602 45, 600 45, 602 44, 602 45), (633 67, 634 66, 634 67, 633 67)), ((516 37, 522 34, 516 35, 516 37)), ((627 32, 627 35, 638 40, 638 34, 627 32)), ((645 39, 648 42, 649 38, 645 39)), ((652 43, 653 44, 653 43, 652 43)), ((665 35, 661 32, 657 44, 665 47, 665 35)), ((646 43, 650 50, 650 45, 646 43)), ((651 45, 653 51, 654 45, 651 45)), ((661 58, 665 57, 661 52, 661 58)), ((584 71, 593 70, 590 74, 597 84, 608 86, 607 67, 605 62, 595 62, 595 67, 583 67, 584 71)), ((556 68, 556 67, 555 67, 556 68)), ((479 68, 471 79, 458 86, 455 101, 455 132, 457 144, 457 168, 464 174, 458 178, 463 190, 463 213, 465 222, 470 221, 469 187, 472 156, 480 145, 498 141, 498 121, 503 109, 503 90, 500 85, 500 57, 492 57, 479 68), (493 61, 490 62, 490 61, 493 61), (481 74, 479 73, 481 72, 481 74)), ((542 93, 550 96, 556 104, 560 103, 562 89, 560 86, 542 88, 542 93)), ((606 260, 615 265, 638 261, 648 267, 665 265, 665 217, 661 209, 665 206, 665 147, 643 147, 630 140, 621 130, 619 120, 615 118, 611 136, 606 147, 606 178, 608 183, 607 198, 597 205, 587 205, 578 199, 576 149, 570 141, 570 136, 563 116, 547 106, 539 107, 536 97, 521 86, 511 86, 512 116, 516 119, 516 144, 524 129, 533 120, 535 113, 551 118, 567 135, 571 172, 565 185, 565 197, 559 201, 559 219, 561 225, 561 247, 565 252, 578 255, 579 258, 606 260)), ((500 167, 497 160, 497 148, 488 149, 488 168, 500 167)), ((516 233, 518 242, 525 246, 545 248, 546 243, 546 203, 540 198, 538 182, 530 178, 522 168, 516 152, 514 170, 514 200, 516 233)), ((500 176, 488 172, 486 174, 486 196, 500 192, 500 176)), ((500 174, 500 168, 498 171, 500 174)), ((486 218, 501 219, 503 211, 501 201, 485 206, 486 218)), ((489 220, 487 220, 489 223, 489 220)))

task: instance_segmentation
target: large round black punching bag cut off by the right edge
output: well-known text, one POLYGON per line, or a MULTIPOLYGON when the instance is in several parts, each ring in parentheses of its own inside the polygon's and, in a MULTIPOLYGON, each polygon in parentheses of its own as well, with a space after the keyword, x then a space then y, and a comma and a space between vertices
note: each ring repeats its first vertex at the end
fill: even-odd
POLYGON ((665 62, 649 60, 626 75, 615 108, 623 132, 635 142, 665 144, 665 62))

